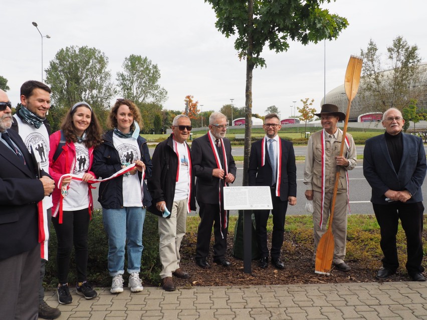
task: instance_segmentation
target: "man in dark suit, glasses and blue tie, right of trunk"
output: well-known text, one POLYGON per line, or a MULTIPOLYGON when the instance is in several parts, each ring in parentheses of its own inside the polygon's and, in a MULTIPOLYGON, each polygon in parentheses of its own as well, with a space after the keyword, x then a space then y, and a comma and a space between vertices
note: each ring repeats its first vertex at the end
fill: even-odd
MULTIPOLYGON (((271 241, 271 262, 283 269, 285 264, 280 260, 285 231, 285 216, 290 205, 297 203, 297 167, 292 142, 283 140, 277 135, 282 126, 277 114, 271 113, 264 118, 264 139, 252 144, 249 158, 248 178, 250 186, 269 186, 273 201, 273 234, 271 241)), ((268 266, 267 220, 270 210, 256 210, 256 235, 261 251, 260 267, 268 266)))

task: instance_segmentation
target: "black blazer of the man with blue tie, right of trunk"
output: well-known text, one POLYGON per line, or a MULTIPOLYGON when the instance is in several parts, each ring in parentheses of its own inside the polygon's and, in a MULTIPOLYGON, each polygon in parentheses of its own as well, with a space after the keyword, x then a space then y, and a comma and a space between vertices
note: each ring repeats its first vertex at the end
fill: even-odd
MULTIPOLYGON (((295 152, 292 142, 280 139, 280 143, 282 144, 280 200, 288 201, 289 196, 297 196, 297 167, 295 165, 295 152)), ((251 147, 248 168, 248 183, 250 186, 270 186, 272 182, 273 173, 267 146, 265 146, 264 150, 264 154, 267 155, 266 163, 263 167, 261 166, 262 144, 263 140, 258 140, 255 141, 251 147)))

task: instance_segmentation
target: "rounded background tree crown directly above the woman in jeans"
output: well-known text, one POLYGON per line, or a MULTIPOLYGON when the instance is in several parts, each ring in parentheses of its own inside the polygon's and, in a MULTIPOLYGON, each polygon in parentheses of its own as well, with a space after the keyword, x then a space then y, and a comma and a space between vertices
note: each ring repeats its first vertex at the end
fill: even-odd
POLYGON ((117 73, 117 82, 123 97, 134 102, 162 104, 167 91, 160 87, 160 70, 147 57, 130 55, 125 58, 123 72, 117 73))

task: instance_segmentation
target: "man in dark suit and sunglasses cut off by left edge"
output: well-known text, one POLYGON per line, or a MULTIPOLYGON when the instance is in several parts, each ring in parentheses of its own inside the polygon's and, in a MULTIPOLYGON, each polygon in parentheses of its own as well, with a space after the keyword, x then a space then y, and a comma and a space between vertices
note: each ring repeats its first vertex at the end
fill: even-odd
POLYGON ((0 314, 35 320, 39 314, 40 244, 38 202, 55 188, 12 126, 12 104, 0 90, 0 314))

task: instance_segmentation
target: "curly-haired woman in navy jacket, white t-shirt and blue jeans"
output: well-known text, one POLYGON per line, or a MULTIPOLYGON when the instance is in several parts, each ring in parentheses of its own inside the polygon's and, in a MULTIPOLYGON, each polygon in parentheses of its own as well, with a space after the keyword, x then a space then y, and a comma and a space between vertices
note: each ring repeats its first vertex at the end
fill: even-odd
POLYGON ((104 228, 108 236, 108 271, 113 277, 110 292, 123 291, 125 246, 127 242, 128 286, 142 291, 142 230, 145 208, 151 204, 145 178, 151 176, 151 158, 147 142, 139 135, 141 115, 136 105, 118 99, 109 115, 113 130, 103 136, 95 151, 93 172, 106 178, 133 163, 136 167, 124 175, 101 182, 98 201, 102 206, 104 228))

